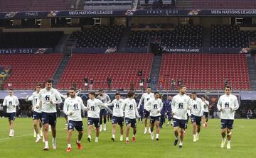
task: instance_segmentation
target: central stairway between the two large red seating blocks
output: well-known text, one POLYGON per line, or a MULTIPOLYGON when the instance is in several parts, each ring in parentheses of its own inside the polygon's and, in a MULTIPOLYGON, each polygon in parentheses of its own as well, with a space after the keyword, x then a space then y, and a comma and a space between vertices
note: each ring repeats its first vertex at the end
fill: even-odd
POLYGON ((161 68, 161 56, 154 56, 152 67, 151 67, 151 74, 150 74, 151 81, 153 80, 154 77, 156 77, 156 83, 158 83, 160 68, 161 68))

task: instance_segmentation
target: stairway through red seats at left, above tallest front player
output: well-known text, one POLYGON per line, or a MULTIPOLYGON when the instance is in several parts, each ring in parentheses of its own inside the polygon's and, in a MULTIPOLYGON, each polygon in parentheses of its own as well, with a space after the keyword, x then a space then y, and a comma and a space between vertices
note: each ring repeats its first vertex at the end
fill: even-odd
POLYGON ((70 57, 68 55, 63 56, 63 59, 61 60, 60 65, 53 76, 53 87, 56 87, 56 85, 58 84, 58 81, 60 81, 60 77, 63 74, 63 70, 67 66, 69 60, 70 60, 70 57))

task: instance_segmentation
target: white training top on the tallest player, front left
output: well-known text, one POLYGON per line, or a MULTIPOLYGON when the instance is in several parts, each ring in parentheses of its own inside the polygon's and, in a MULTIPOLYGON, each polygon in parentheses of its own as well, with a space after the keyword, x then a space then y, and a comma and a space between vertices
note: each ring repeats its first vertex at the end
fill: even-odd
POLYGON ((39 106, 41 103, 42 112, 44 113, 56 113, 56 104, 62 103, 59 92, 53 88, 51 88, 49 91, 46 88, 41 89, 38 98, 39 99, 36 106, 39 106), (50 101, 53 101, 53 103, 50 103, 50 101))

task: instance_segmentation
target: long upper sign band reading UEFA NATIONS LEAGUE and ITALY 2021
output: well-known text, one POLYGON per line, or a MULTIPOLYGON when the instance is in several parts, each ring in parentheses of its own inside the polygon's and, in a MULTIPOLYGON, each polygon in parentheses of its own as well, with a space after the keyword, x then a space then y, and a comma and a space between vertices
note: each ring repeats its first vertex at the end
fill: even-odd
POLYGON ((256 16, 256 9, 238 10, 123 10, 123 11, 26 11, 0 13, 0 18, 55 18, 94 16, 256 16))

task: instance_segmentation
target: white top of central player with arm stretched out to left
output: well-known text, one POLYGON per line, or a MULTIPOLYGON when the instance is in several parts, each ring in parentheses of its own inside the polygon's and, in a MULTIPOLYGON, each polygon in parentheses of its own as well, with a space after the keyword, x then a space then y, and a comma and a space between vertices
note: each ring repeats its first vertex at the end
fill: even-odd
POLYGON ((124 99, 114 99, 112 103, 107 103, 107 106, 113 106, 113 115, 116 117, 124 117, 124 99))

